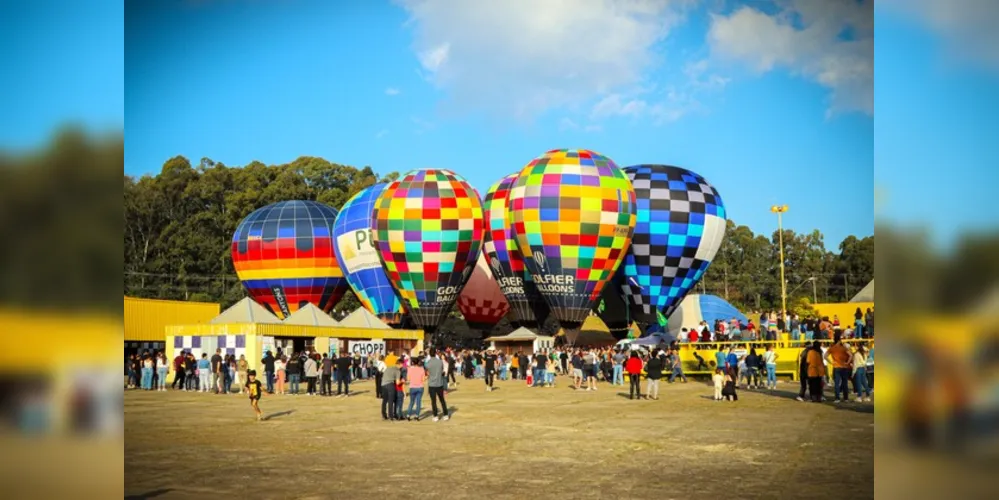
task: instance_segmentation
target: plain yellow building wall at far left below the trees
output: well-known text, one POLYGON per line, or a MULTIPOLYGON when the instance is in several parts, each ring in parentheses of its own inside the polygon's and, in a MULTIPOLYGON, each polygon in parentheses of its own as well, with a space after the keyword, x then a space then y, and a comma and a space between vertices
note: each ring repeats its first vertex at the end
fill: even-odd
POLYGON ((125 297, 125 341, 161 342, 167 325, 207 323, 219 304, 125 297))

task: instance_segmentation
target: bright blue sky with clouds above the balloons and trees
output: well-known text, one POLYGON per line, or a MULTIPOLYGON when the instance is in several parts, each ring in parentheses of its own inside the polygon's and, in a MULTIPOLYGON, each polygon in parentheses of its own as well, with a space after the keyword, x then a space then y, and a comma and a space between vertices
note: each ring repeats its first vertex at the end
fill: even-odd
POLYGON ((885 0, 874 21, 850 1, 126 3, 0 6, 22 70, 0 148, 127 123, 129 174, 320 155, 485 189, 585 147, 695 170, 758 232, 787 203, 830 247, 873 231, 875 185, 879 217, 938 242, 997 222, 994 2, 885 0))

